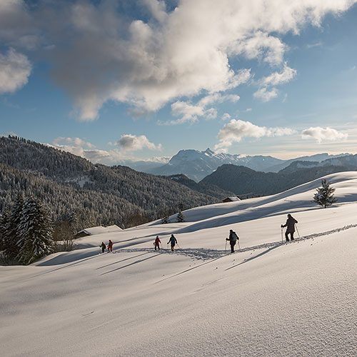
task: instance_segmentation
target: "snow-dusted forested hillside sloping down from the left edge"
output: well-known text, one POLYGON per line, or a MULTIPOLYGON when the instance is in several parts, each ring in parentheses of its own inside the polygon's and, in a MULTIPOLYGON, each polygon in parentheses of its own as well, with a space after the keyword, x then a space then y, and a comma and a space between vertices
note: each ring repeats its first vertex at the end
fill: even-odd
POLYGON ((19 139, 0 138, 0 213, 18 193, 34 195, 48 206, 54 221, 76 212, 81 226, 132 226, 164 213, 220 201, 126 166, 94 165, 79 156, 19 139))

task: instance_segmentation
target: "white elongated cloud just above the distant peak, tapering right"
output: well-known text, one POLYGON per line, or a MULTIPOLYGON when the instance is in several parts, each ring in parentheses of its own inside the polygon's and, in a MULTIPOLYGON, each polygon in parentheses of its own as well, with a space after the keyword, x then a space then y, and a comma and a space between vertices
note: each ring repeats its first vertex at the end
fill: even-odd
POLYGON ((295 134, 296 131, 289 128, 266 128, 257 126, 250 121, 232 119, 218 132, 220 143, 215 149, 223 149, 231 146, 233 142, 239 142, 243 138, 262 138, 263 136, 285 136, 295 134))

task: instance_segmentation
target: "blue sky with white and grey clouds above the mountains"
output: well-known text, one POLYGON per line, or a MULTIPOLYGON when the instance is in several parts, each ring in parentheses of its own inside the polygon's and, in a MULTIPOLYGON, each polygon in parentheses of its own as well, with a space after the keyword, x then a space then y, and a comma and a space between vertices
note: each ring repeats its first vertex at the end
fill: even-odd
POLYGON ((93 162, 356 154, 357 0, 1 0, 0 135, 93 162))

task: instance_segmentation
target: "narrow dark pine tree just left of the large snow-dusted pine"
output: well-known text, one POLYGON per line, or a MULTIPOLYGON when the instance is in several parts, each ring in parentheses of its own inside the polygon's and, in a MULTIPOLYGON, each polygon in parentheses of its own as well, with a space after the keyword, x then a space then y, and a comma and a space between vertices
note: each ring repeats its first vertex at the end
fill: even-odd
POLYGON ((24 206, 24 196, 19 194, 14 206, 12 206, 8 221, 6 223, 6 232, 4 234, 4 254, 8 259, 16 258, 18 253, 17 241, 19 239, 19 223, 21 211, 24 206))

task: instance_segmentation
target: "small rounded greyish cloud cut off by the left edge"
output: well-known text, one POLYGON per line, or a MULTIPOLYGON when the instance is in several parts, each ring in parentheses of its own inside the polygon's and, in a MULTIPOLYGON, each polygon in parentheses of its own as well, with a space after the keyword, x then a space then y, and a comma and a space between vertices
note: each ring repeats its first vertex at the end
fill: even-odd
POLYGON ((29 81, 30 74, 31 64, 24 54, 14 49, 0 53, 0 94, 21 89, 29 81))

